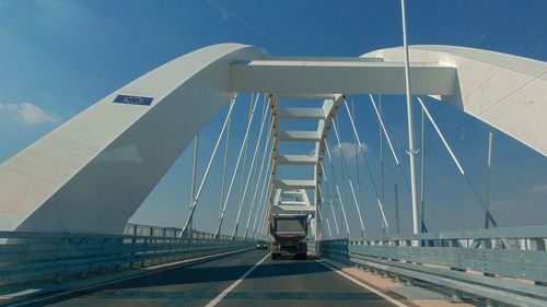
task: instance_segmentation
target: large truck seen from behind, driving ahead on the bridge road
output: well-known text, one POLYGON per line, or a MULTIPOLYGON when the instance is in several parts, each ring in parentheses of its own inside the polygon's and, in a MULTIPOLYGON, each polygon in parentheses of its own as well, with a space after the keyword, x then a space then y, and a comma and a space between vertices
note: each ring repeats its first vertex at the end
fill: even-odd
POLYGON ((291 256, 295 259, 307 258, 307 214, 270 215, 271 259, 291 256))

